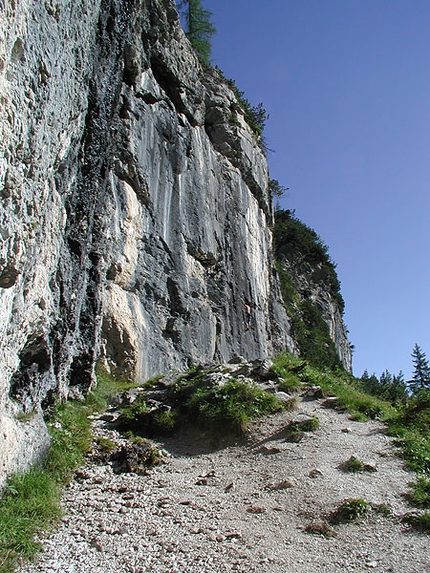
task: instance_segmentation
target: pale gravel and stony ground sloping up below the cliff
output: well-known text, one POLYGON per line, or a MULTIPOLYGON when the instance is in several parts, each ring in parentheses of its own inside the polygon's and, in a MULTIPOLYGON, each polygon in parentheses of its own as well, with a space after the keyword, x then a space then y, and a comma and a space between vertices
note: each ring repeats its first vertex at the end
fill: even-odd
MULTIPOLYGON (((105 424, 96 420, 95 433, 115 437, 105 424)), ((162 463, 142 475, 90 457, 64 491, 60 527, 20 573, 430 571, 428 536, 402 522, 414 476, 380 423, 303 399, 237 443, 214 449, 190 431, 159 446, 162 463), (302 414, 319 428, 285 441, 302 414), (376 471, 343 471, 353 455, 376 471), (370 508, 334 523, 347 498, 370 508)))

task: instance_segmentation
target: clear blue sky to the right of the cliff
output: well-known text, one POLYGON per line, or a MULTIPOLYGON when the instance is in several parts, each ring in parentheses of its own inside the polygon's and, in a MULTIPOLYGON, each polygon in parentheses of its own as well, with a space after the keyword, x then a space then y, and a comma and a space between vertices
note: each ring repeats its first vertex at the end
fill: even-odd
POLYGON ((203 0, 212 63, 270 114, 281 206, 337 264, 354 373, 430 359, 430 3, 203 0))

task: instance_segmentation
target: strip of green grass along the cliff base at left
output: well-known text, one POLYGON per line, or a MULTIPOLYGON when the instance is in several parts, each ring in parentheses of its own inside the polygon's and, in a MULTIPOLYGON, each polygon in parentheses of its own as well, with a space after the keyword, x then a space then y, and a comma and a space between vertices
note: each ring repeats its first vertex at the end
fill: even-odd
MULTIPOLYGON (((46 460, 26 474, 11 476, 0 503, 0 570, 11 573, 21 561, 40 549, 35 534, 49 530, 61 517, 61 487, 83 464, 91 445, 90 421, 94 411, 107 407, 108 397, 130 387, 99 373, 99 384, 85 404, 57 405, 48 421, 51 449, 46 460)), ((108 444, 105 444, 108 446, 108 444)))

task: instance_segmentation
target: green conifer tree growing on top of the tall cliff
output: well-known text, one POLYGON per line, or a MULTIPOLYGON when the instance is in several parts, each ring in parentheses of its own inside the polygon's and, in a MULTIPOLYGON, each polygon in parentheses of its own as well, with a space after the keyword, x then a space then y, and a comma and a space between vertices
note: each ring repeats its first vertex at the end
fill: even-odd
POLYGON ((178 8, 185 20, 185 33, 203 66, 211 65, 211 39, 216 29, 211 22, 212 12, 202 6, 202 0, 181 0, 178 8))

